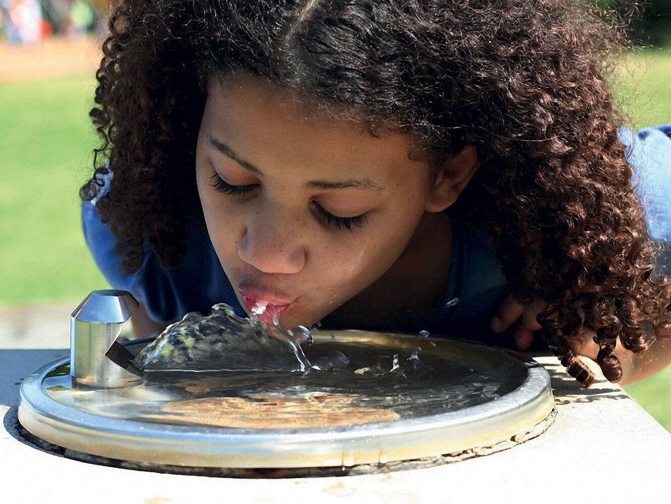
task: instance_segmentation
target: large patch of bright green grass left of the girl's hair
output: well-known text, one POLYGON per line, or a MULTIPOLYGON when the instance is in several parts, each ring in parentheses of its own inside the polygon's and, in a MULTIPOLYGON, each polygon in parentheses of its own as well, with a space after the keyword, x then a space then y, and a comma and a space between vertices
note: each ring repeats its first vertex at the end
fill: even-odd
POLYGON ((107 286, 85 247, 77 196, 96 141, 93 84, 0 84, 0 304, 75 301, 107 286))

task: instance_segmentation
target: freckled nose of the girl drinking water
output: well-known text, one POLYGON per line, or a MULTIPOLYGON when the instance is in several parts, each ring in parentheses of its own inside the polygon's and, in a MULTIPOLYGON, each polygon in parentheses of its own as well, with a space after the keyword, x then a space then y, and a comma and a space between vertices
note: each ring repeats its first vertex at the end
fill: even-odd
POLYGON ((256 212, 248 218, 238 256, 264 273, 298 273, 306 255, 299 224, 276 209, 256 212))

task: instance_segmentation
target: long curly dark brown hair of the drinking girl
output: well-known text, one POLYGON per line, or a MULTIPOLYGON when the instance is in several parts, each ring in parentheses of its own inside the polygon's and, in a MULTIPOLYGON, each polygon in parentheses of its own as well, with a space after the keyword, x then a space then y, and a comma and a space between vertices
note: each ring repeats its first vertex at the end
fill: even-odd
MULTIPOLYGON (((207 80, 244 70, 372 134, 408 133, 440 166, 466 143, 481 166, 457 205, 486 223, 511 292, 541 298, 548 345, 595 331, 607 379, 617 338, 639 353, 671 334, 671 286, 631 187, 605 56, 620 32, 571 0, 123 0, 97 72, 103 140, 81 189, 111 225, 125 272, 148 241, 164 267, 201 216, 195 145, 207 80), (142 216, 140 218, 140 216, 142 216)), ((414 154, 413 154, 414 155, 414 154)))

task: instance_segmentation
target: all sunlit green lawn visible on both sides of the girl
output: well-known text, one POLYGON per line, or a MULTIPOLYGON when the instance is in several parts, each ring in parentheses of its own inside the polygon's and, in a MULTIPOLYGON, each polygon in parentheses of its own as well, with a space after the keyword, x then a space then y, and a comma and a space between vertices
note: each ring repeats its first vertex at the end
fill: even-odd
MULTIPOLYGON (((671 52, 631 58, 618 94, 635 125, 671 122, 671 52)), ((96 137, 93 79, 0 84, 0 304, 76 302, 105 288, 84 245, 77 190, 96 137)), ((671 367, 627 387, 671 430, 671 367)))

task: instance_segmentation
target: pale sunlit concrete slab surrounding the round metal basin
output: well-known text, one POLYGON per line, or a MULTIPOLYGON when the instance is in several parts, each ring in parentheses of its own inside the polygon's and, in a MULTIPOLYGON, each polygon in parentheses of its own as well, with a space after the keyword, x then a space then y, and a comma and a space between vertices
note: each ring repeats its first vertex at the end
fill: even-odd
MULTIPOLYGON (((0 344, 3 342, 0 335, 0 344)), ((671 502, 671 434, 617 385, 583 389, 554 357, 535 355, 552 377, 557 416, 527 442, 454 464, 352 477, 240 479, 161 474, 46 452, 17 430, 21 379, 68 350, 0 350, 0 474, 11 503, 590 503, 671 502)), ((513 445, 513 443, 511 443, 513 445)), ((3 499, 3 501, 5 500, 3 499)))

